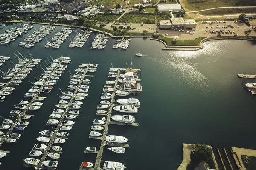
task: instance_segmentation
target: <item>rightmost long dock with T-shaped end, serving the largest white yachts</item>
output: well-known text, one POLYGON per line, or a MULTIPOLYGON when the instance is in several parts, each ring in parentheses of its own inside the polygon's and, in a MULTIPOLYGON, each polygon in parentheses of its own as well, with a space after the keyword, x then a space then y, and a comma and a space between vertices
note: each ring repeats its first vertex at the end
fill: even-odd
MULTIPOLYGON (((114 102, 115 102, 115 96, 116 96, 116 86, 118 84, 120 71, 131 71, 131 69, 130 68, 118 68, 108 113, 103 113, 103 114, 96 113, 96 115, 107 116, 107 118, 106 118, 106 123, 105 123, 105 129, 104 129, 104 132, 103 132, 102 136, 89 136, 89 138, 91 138, 91 139, 100 139, 101 140, 101 145, 100 145, 100 148, 99 148, 98 151, 95 151, 95 152, 90 152, 90 151, 87 151, 87 150, 84 151, 84 153, 96 153, 97 154, 96 161, 95 161, 95 164, 94 164, 94 168, 90 168, 88 170, 102 170, 101 167, 100 167, 100 163, 102 161, 102 155, 103 155, 103 150, 104 150, 105 146, 113 146, 113 147, 129 147, 130 146, 129 144, 126 144, 126 143, 106 142, 105 141, 105 136, 108 135, 107 133, 108 133, 108 126, 109 125, 112 124, 112 125, 139 126, 138 123, 123 123, 123 122, 115 122, 115 121, 110 120, 112 109, 115 106, 114 102)), ((138 71, 141 71, 141 69, 132 69, 132 71, 138 72, 138 71)), ((80 167, 79 170, 83 170, 83 168, 80 167)), ((86 170, 87 170, 87 168, 86 168, 86 170)))

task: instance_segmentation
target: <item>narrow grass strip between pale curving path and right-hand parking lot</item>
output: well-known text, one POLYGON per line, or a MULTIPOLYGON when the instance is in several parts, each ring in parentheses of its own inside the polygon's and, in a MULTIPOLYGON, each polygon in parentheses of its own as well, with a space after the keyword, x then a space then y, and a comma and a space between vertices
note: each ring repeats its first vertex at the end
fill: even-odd
POLYGON ((255 13, 256 8, 225 8, 225 9, 214 9, 209 11, 201 11, 202 15, 224 15, 224 14, 238 14, 238 13, 255 13))

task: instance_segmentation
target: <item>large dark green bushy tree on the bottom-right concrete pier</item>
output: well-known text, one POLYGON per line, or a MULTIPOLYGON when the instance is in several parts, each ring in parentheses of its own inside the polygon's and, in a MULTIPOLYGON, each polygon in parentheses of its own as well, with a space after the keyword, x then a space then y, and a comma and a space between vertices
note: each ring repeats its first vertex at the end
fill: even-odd
POLYGON ((195 151, 192 153, 196 159, 209 161, 212 159, 212 149, 205 144, 195 144, 195 151))

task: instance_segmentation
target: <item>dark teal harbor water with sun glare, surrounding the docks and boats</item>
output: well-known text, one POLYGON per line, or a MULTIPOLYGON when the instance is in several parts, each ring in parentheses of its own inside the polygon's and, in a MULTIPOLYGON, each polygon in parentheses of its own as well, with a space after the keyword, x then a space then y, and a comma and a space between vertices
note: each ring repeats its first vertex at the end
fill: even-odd
MULTIPOLYGON (((18 24, 1 27, 0 34, 18 24)), ((38 28, 40 25, 34 25, 38 28)), ((35 28, 30 30, 32 33, 35 28)), ((55 28, 55 32, 62 27, 55 28)), ((77 29, 79 32, 80 29, 77 29)), ((75 33, 73 33, 75 34, 75 33)), ((27 35, 23 34, 22 38, 27 35)), ((50 40, 52 33, 47 36, 50 40)), ((36 143, 42 130, 53 130, 46 125, 50 113, 60 100, 61 90, 69 85, 69 71, 74 73, 79 63, 98 63, 91 80, 89 92, 80 109, 78 120, 64 144, 57 170, 78 170, 81 162, 94 162, 96 154, 84 153, 86 147, 99 148, 100 140, 89 139, 90 126, 96 116, 96 106, 102 93, 111 63, 114 68, 126 68, 131 60, 139 73, 143 91, 135 96, 140 99, 140 108, 135 113, 138 127, 110 125, 108 135, 125 136, 129 148, 123 156, 105 150, 102 160, 117 161, 125 164, 128 170, 176 170, 183 159, 183 143, 201 143, 213 148, 242 147, 256 149, 254 136, 256 114, 254 105, 256 98, 244 88, 245 83, 256 82, 254 79, 239 79, 237 74, 256 74, 255 43, 243 40, 218 40, 204 43, 199 51, 162 51, 163 44, 149 38, 131 38, 127 50, 112 49, 115 40, 109 38, 103 50, 89 49, 95 34, 91 34, 83 48, 69 48, 66 40, 60 48, 44 48, 47 42, 43 39, 35 43, 35 47, 26 49, 17 46, 23 39, 20 37, 8 46, 0 46, 0 55, 11 57, 17 63, 18 50, 25 56, 29 53, 35 59, 43 59, 49 63, 50 56, 70 57, 67 66, 57 84, 46 96, 44 105, 37 111, 27 111, 35 116, 28 119, 29 125, 23 131, 13 130, 22 136, 15 143, 4 143, 0 150, 10 151, 0 159, 0 170, 30 170, 22 167, 23 159, 30 157, 29 151, 36 143), (29 52, 29 53, 28 53, 29 52), (14 54, 15 53, 15 54, 14 54), (143 54, 136 57, 135 53, 143 54), (245 81, 245 82, 244 82, 245 81)), ((44 65, 46 62, 43 61, 44 65)), ((4 63, 0 70, 7 71, 12 62, 4 63)), ((40 63, 41 66, 43 66, 40 63)), ((29 90, 31 82, 41 75, 42 69, 36 66, 31 74, 23 80, 16 90, 0 103, 0 116, 7 118, 13 105, 26 100, 23 94, 29 90)), ((0 82, 5 82, 3 79, 0 82)), ((116 111, 113 111, 116 114, 116 111)), ((1 120, 2 121, 2 120, 1 120)), ((6 132, 5 130, 2 130, 6 132)), ((39 156, 40 158, 40 156, 39 156)), ((47 157, 49 160, 49 157, 47 157)))

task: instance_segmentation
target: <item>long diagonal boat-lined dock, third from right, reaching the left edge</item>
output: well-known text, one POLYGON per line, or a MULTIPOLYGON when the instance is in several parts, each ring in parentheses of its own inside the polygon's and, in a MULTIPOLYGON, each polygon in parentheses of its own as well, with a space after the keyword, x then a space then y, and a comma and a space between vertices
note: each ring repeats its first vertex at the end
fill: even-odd
MULTIPOLYGON (((61 65, 62 62, 58 63, 58 66, 61 65)), ((43 83, 43 85, 38 89, 38 91, 35 93, 35 96, 32 97, 31 101, 29 102, 28 105, 26 105, 26 108, 20 113, 20 115, 17 117, 16 121, 10 125, 11 127, 8 129, 7 133, 5 134, 5 136, 3 136, 3 139, 0 141, 0 146, 3 144, 3 142, 5 141, 6 138, 8 138, 8 136, 10 135, 10 133, 12 133, 12 130, 17 127, 17 126, 21 126, 21 125, 17 125, 17 122, 20 121, 21 117, 23 115, 25 115, 26 111, 29 110, 29 107, 32 105, 33 102, 35 102, 35 99, 38 97, 38 95, 41 93, 43 89, 43 87, 45 86, 45 84, 49 81, 50 77, 52 76, 52 74, 55 73, 55 71, 57 70, 58 67, 56 67, 52 73, 50 74, 50 76, 46 79, 46 81, 43 83)), ((24 127, 24 126, 23 126, 24 127)))

